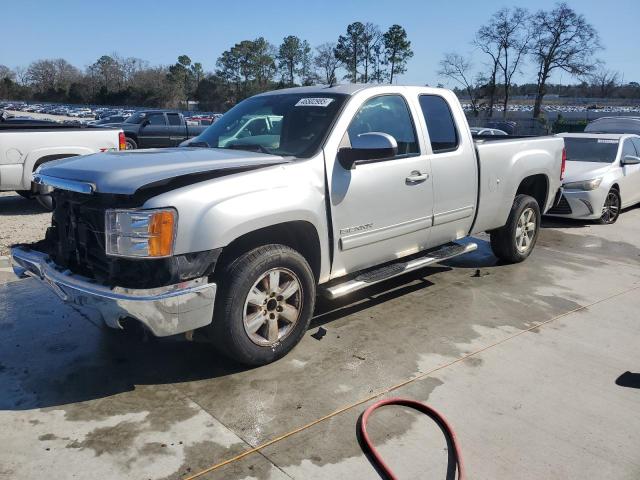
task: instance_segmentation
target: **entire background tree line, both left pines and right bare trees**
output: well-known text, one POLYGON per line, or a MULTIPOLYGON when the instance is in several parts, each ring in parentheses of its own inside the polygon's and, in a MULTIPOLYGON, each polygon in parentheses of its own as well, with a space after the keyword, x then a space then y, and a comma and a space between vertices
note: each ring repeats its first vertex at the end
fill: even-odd
MULTIPOLYGON (((619 72, 596 58, 602 50, 596 29, 566 3, 549 10, 502 8, 490 16, 470 41, 469 54, 447 52, 438 74, 469 99, 476 114, 506 116, 513 95, 535 98, 541 114, 545 95, 640 98, 636 82, 622 82, 619 72), (531 81, 517 85, 525 65, 531 81), (559 72, 571 85, 551 84, 559 72)), ((386 30, 354 22, 335 42, 312 47, 288 35, 279 45, 264 37, 243 40, 224 51, 215 70, 181 55, 173 65, 152 66, 134 57, 103 55, 79 69, 66 60, 46 59, 27 67, 0 65, 0 98, 68 103, 180 107, 190 100, 201 109, 225 111, 266 90, 339 81, 394 83, 413 57, 411 41, 400 25, 386 30)))

